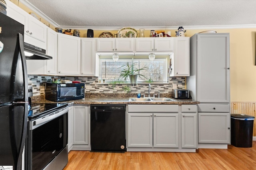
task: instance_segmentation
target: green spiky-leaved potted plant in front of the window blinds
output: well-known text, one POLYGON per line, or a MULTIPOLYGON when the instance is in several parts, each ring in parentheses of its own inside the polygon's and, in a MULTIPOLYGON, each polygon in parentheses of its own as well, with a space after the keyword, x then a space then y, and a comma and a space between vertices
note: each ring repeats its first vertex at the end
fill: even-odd
POLYGON ((140 77, 144 77, 146 78, 144 75, 140 74, 141 70, 145 70, 145 67, 142 68, 136 68, 136 66, 134 66, 135 63, 129 64, 128 62, 126 63, 126 65, 123 65, 122 68, 123 70, 121 71, 121 74, 119 76, 120 80, 124 80, 125 82, 127 82, 128 77, 130 78, 130 83, 134 86, 134 84, 137 84, 137 78, 138 76, 140 77))

